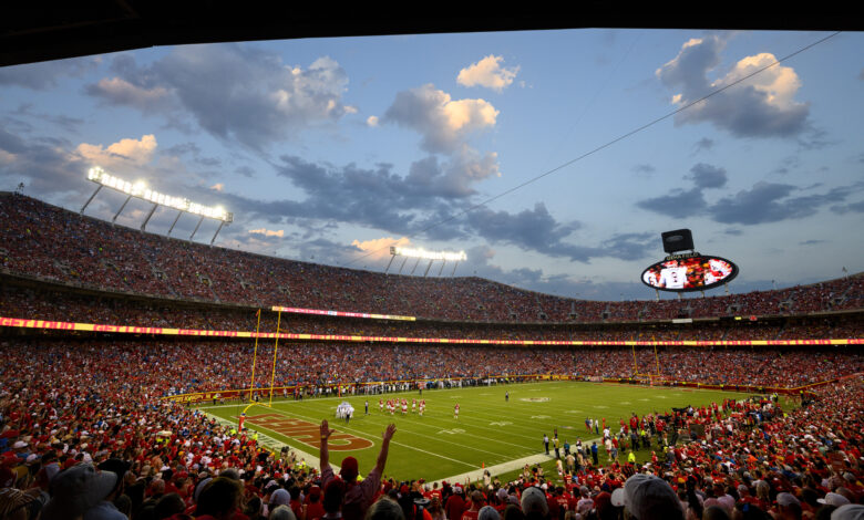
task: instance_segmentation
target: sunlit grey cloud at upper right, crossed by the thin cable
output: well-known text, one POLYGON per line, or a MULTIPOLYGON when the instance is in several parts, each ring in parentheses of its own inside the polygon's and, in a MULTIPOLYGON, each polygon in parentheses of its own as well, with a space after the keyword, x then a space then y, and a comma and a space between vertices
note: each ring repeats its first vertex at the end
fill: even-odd
MULTIPOLYGON (((687 105, 712 91, 770 65, 776 59, 760 53, 740 60, 726 75, 708 75, 721 62, 726 42, 717 35, 686 42, 678 55, 656 71, 676 105, 687 105)), ((711 123, 739 137, 790 137, 808 128, 809 105, 794 101, 801 81, 792 67, 774 65, 676 115, 676 124, 711 123)))

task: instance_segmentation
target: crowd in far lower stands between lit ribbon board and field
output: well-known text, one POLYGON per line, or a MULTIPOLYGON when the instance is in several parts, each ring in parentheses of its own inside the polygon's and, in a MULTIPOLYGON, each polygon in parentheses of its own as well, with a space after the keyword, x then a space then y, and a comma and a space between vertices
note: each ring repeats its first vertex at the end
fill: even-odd
MULTIPOLYGON (((121 364, 160 373, 169 383, 151 392, 156 396, 248 387, 254 350, 249 342, 174 339, 93 341, 86 336, 74 340, 4 340, 0 346, 10 364, 21 363, 32 371, 39 364, 76 360, 88 366, 99 364, 100 370, 103 370, 102 365, 121 364)), ((268 365, 272 350, 271 344, 258 345, 258 354, 268 358, 268 365)), ((525 350, 282 343, 277 351, 275 386, 302 386, 311 392, 313 387, 352 385, 362 388, 397 381, 513 378, 543 374, 631 378, 651 374, 658 381, 798 387, 858 372, 864 372, 864 356, 856 351, 814 355, 806 350, 696 351, 667 347, 658 350, 657 357, 650 349, 639 350, 634 358, 629 349, 610 347, 525 350), (482 358, 483 363, 477 363, 477 358, 482 358)), ((269 379, 258 381, 256 386, 269 387, 269 379)))

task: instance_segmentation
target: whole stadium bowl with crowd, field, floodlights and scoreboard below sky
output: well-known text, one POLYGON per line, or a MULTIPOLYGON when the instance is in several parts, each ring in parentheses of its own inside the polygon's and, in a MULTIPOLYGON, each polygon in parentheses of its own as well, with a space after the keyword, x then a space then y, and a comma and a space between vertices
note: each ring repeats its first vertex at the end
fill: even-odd
POLYGON ((864 514, 864 273, 730 293, 668 233, 647 299, 335 266, 91 166, 79 211, 0 193, 0 520, 864 514))

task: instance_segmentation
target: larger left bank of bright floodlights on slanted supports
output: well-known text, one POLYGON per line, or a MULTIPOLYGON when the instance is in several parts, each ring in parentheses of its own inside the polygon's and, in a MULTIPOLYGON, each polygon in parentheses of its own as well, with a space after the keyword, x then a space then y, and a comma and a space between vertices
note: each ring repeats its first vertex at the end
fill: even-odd
POLYGON ((94 166, 88 170, 88 180, 96 184, 96 190, 93 191, 93 195, 91 195, 88 201, 84 202, 84 206, 81 207, 81 215, 84 215, 84 209, 86 209, 93 198, 95 198, 96 194, 99 194, 99 190, 101 190, 103 187, 114 189, 127 196, 126 200, 123 201, 123 206, 120 207, 117 212, 114 214, 114 218, 111 219, 112 226, 117 220, 117 217, 123 211, 123 209, 126 207, 126 204, 128 204, 133 197, 153 205, 153 207, 150 208, 150 212, 144 219, 144 222, 141 225, 142 232, 144 232, 147 222, 150 222, 150 218, 153 217, 153 214, 160 206, 177 210, 177 217, 174 219, 174 223, 171 225, 168 232, 165 235, 166 237, 171 236, 171 232, 174 230, 174 226, 177 223, 177 220, 179 220, 181 215, 196 215, 200 216, 200 219, 198 220, 198 225, 195 226, 195 230, 189 236, 189 241, 192 241, 192 239, 195 237, 195 233, 198 232, 198 228, 200 227, 204 219, 210 218, 219 221, 219 227, 216 229, 216 232, 210 239, 210 246, 213 246, 213 242, 216 241, 216 237, 219 235, 219 231, 222 231, 223 226, 234 221, 234 214, 226 211, 220 206, 204 206, 198 202, 193 202, 185 197, 175 197, 172 195, 161 194, 150 189, 143 180, 138 180, 137 183, 130 183, 128 180, 123 180, 120 177, 115 177, 106 173, 99 166, 94 166))

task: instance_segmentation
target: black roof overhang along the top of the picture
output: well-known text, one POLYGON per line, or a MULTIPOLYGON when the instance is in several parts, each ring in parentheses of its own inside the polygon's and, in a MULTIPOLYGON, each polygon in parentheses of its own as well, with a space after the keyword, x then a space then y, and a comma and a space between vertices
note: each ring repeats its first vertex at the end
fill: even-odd
POLYGON ((300 38, 369 37, 541 29, 854 30, 864 27, 847 6, 778 11, 772 4, 732 2, 726 9, 687 9, 673 17, 650 2, 582 2, 573 10, 466 8, 423 13, 387 7, 333 10, 285 2, 93 0, 13 2, 0 23, 0 66, 158 45, 300 38), (741 15, 736 4, 747 12, 741 15), (443 11, 442 11, 443 12, 443 11))

